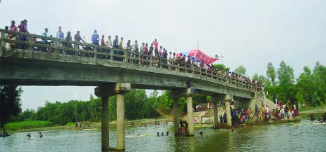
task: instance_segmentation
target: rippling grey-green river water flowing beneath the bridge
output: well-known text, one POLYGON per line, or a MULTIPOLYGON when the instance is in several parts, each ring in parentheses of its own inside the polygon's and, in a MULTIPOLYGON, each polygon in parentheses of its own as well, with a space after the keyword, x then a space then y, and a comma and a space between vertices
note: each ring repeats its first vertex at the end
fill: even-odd
MULTIPOLYGON (((44 131, 11 134, 0 139, 0 151, 101 151, 101 130, 44 131)), ((195 127, 194 137, 174 137, 173 123, 126 127, 126 151, 326 151, 326 125, 310 120, 250 128, 211 130, 195 127), (203 131, 204 135, 199 135, 203 131), (164 136, 157 137, 157 132, 164 136), (166 136, 169 132, 169 136, 166 136), (138 135, 140 134, 140 136, 138 135)), ((116 146, 115 128, 110 128, 110 146, 116 146)))

